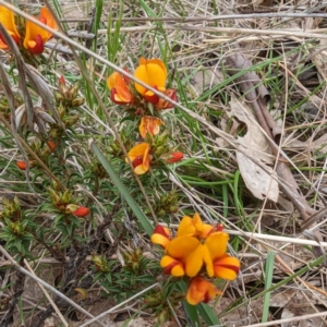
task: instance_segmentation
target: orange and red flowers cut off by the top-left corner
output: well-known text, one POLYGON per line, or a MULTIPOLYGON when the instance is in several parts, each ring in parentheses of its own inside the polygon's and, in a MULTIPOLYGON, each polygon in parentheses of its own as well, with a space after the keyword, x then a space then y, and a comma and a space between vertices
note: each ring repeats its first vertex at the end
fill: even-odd
MULTIPOLYGON (((51 27, 52 29, 57 28, 57 23, 51 15, 50 11, 43 7, 38 17, 35 17, 40 21, 46 26, 51 27)), ((40 55, 44 52, 45 44, 52 37, 52 34, 43 27, 36 25, 31 21, 26 21, 25 28, 21 28, 21 26, 15 25, 15 17, 12 10, 5 8, 4 5, 0 5, 0 21, 13 40, 17 44, 17 46, 22 46, 32 55, 40 55), (25 35, 23 36, 24 40, 22 43, 22 36, 19 31, 24 31, 25 35)), ((23 32, 23 33, 24 33, 23 32)), ((9 47, 0 34, 0 49, 8 50, 9 47)))

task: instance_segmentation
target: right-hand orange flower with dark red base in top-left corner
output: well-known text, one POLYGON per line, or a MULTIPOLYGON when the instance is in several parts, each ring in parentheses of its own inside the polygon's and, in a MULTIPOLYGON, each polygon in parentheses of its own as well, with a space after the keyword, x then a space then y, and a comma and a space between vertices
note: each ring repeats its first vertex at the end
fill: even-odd
MULTIPOLYGON (((43 7, 39 13, 38 20, 46 26, 51 27, 52 29, 57 28, 57 23, 51 15, 50 11, 43 7)), ((40 55, 44 52, 45 44, 52 37, 52 33, 44 29, 43 27, 26 21, 26 35, 24 39, 24 47, 28 52, 33 55, 40 55)))

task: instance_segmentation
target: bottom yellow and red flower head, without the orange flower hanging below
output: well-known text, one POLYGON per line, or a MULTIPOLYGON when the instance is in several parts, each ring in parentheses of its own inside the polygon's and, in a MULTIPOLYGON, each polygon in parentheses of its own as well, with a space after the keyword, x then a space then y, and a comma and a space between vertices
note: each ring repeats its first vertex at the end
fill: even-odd
POLYGON ((240 262, 226 254, 228 240, 221 226, 203 223, 199 215, 195 214, 193 218, 183 217, 175 239, 168 242, 155 237, 153 242, 160 245, 165 242, 165 256, 160 261, 165 274, 195 277, 206 267, 209 277, 233 280, 238 276, 240 262))

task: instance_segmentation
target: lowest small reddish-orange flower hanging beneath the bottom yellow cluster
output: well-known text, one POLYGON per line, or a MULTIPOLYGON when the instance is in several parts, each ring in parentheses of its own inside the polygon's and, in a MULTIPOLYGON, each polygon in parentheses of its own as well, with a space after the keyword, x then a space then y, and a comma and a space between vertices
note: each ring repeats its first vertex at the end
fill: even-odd
POLYGON ((196 305, 201 302, 207 303, 210 300, 214 300, 216 295, 221 295, 215 284, 209 282, 203 277, 195 277, 191 279, 189 291, 186 294, 186 301, 191 305, 196 305))

